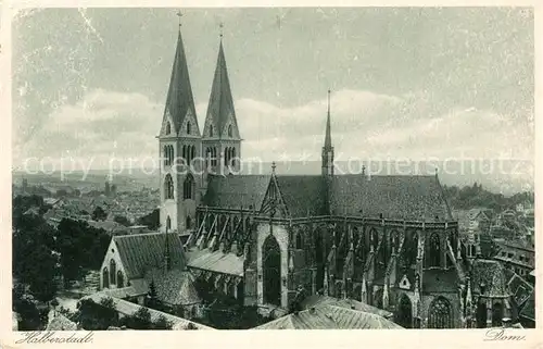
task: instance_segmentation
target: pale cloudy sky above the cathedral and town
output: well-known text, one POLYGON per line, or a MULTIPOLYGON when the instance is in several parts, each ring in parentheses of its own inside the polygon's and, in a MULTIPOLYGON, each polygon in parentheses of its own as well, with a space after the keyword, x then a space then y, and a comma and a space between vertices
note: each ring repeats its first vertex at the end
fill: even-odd
MULTIPOLYGON (((187 9, 203 126, 219 24, 243 158, 513 159, 533 182, 533 13, 522 8, 187 9)), ((13 164, 156 158, 177 9, 13 21, 13 164)))

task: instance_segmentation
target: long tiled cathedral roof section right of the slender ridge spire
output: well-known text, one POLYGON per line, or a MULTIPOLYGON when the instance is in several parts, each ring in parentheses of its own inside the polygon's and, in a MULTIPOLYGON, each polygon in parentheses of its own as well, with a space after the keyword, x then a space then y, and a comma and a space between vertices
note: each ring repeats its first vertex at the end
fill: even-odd
POLYGON ((452 220, 443 190, 435 176, 333 177, 332 213, 366 217, 406 220, 452 220), (361 213, 362 211, 362 213, 361 213))

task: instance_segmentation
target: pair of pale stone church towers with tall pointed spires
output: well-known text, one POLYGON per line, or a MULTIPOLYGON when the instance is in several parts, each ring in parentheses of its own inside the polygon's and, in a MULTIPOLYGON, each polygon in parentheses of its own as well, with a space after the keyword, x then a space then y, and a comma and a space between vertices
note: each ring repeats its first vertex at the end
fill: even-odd
POLYGON ((164 109, 160 142, 162 230, 184 232, 195 224, 197 205, 210 173, 239 171, 241 137, 228 79, 223 35, 203 133, 200 132, 181 30, 164 109))

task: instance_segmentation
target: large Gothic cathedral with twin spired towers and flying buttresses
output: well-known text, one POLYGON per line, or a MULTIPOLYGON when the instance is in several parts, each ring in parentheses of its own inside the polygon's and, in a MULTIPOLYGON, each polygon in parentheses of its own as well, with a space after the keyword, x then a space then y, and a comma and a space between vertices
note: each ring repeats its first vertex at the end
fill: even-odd
POLYGON ((388 310, 406 328, 490 326, 507 316, 503 270, 476 258, 476 241, 460 241, 437 173, 334 174, 329 94, 319 175, 279 175, 275 164, 268 174, 238 174, 242 138, 223 39, 201 129, 179 32, 157 137, 161 232, 114 237, 101 287, 118 288, 123 270, 136 278, 122 286, 138 285, 165 265, 167 275, 181 270, 182 282, 168 287, 193 295, 186 303, 197 303, 193 285, 205 284, 277 316, 301 290, 388 310))

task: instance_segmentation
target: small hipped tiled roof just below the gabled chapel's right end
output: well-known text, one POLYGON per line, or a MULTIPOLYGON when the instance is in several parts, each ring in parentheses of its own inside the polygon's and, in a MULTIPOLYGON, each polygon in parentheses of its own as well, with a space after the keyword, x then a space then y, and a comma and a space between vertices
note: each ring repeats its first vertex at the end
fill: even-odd
POLYGON ((194 277, 188 271, 172 270, 164 273, 154 269, 146 274, 148 284, 154 281, 159 300, 168 304, 187 306, 200 302, 200 297, 194 288, 194 277))

